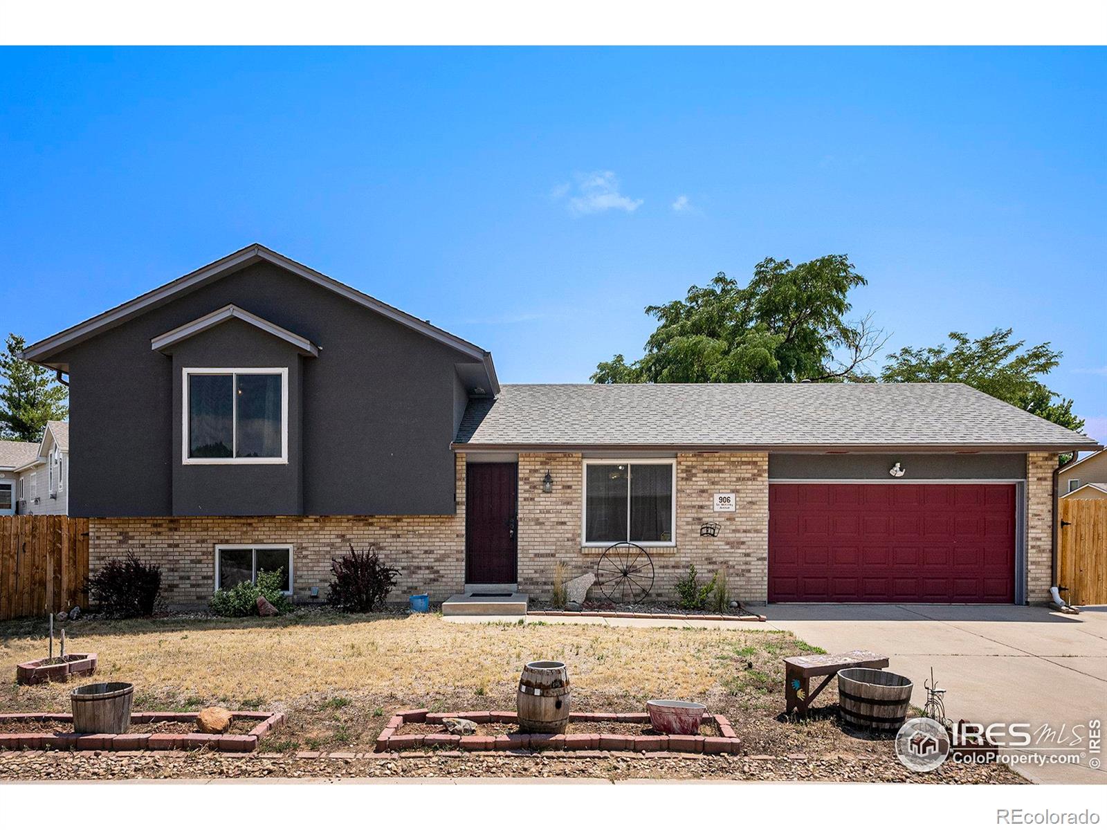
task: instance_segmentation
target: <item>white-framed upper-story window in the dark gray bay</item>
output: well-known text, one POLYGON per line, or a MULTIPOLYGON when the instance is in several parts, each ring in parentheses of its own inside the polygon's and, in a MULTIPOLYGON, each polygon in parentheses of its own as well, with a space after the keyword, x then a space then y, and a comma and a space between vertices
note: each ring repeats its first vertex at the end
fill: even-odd
POLYGON ((183 464, 288 464, 288 367, 186 369, 183 464))

